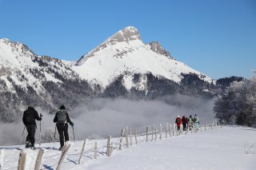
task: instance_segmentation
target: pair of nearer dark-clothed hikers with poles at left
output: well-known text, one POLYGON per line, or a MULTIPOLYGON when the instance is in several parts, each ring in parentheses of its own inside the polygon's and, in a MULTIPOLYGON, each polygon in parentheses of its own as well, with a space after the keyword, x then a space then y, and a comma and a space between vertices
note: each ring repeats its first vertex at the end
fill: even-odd
MULTIPOLYGON (((34 147, 34 134, 37 128, 36 122, 42 121, 42 114, 40 113, 40 117, 38 112, 33 107, 28 107, 26 111, 23 113, 22 121, 23 124, 26 126, 27 136, 26 136, 26 146, 25 148, 32 148, 34 147)), ((69 114, 66 112, 65 106, 62 105, 58 112, 55 114, 54 123, 56 123, 56 127, 58 129, 59 140, 60 140, 60 148, 59 150, 62 151, 64 146, 64 141, 67 142, 69 140, 69 133, 68 133, 68 124, 69 123, 72 127, 74 127, 74 123, 70 121, 69 114), (64 140, 65 139, 65 140, 64 140)))

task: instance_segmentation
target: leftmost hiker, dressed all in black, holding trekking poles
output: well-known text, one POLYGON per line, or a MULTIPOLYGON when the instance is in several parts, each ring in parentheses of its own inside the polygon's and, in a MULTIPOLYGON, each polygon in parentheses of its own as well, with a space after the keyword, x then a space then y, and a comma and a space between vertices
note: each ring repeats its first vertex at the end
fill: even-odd
POLYGON ((28 107, 23 113, 22 121, 23 124, 26 126, 27 136, 26 136, 26 146, 25 148, 32 148, 34 147, 34 134, 37 128, 36 122, 42 121, 42 114, 40 113, 40 117, 38 116, 38 112, 33 107, 28 107))

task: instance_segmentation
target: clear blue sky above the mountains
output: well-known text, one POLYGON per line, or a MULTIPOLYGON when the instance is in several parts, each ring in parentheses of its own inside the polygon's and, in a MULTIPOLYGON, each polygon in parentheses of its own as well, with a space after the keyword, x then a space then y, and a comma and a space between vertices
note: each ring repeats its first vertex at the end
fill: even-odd
POLYGON ((76 61, 126 26, 215 79, 256 69, 254 0, 0 0, 0 38, 38 55, 76 61))

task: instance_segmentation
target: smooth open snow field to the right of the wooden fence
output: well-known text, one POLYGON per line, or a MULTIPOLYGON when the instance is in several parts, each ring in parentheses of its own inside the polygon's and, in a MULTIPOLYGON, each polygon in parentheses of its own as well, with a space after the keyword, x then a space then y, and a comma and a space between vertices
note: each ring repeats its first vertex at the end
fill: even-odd
POLYGON ((256 155, 244 152, 246 142, 256 141, 255 128, 224 127, 188 134, 115 152, 111 159, 98 160, 86 169, 255 169, 256 155))

